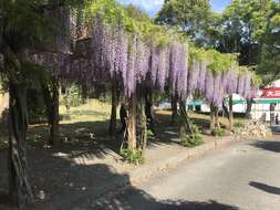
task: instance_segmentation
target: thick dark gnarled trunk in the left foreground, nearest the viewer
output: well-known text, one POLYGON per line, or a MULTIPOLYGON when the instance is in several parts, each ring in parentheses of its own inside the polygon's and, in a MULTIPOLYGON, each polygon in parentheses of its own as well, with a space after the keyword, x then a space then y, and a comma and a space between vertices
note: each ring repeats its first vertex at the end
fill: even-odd
POLYGON ((19 209, 24 209, 33 200, 28 181, 27 164, 27 86, 25 75, 17 54, 3 46, 4 69, 9 78, 9 196, 19 209))

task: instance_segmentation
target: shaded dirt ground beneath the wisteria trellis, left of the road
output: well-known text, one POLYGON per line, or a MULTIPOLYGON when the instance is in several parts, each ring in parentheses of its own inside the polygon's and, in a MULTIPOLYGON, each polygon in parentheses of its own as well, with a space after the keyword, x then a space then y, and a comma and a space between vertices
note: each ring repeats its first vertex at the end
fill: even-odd
MULTIPOLYGON (((68 201, 73 201, 73 198, 102 193, 110 188, 108 180, 122 182, 129 179, 127 174, 136 166, 124 162, 118 155, 122 136, 106 136, 110 108, 104 106, 102 113, 91 113, 86 111, 90 107, 87 105, 73 109, 71 120, 61 122, 61 137, 64 143, 60 149, 46 145, 45 125, 30 126, 28 162, 29 179, 35 195, 34 207, 45 207, 46 203, 48 207, 66 207, 68 201)), ((200 128, 208 127, 207 117, 191 115, 200 128)), ((170 125, 170 112, 157 112, 156 119, 157 135, 149 144, 149 149, 162 145, 183 149, 178 145, 178 128, 170 125)), ((6 147, 7 144, 3 144, 0 149, 0 195, 8 191, 6 147)))

